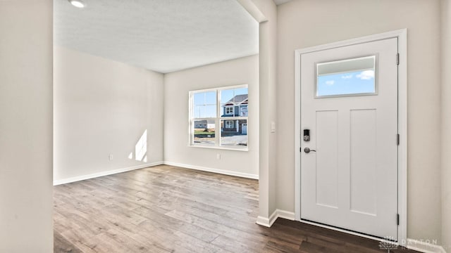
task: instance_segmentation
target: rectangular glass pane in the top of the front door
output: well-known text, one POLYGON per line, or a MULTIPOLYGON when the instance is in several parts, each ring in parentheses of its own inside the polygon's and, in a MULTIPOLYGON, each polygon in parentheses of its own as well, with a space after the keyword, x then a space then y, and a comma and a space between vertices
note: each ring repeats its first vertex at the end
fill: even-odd
POLYGON ((376 93, 376 56, 316 65, 316 97, 376 93))

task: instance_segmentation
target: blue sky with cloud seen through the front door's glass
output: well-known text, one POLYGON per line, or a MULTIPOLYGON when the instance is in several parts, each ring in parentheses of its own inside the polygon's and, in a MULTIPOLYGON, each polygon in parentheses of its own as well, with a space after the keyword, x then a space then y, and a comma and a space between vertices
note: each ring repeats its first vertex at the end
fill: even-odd
POLYGON ((374 70, 325 74, 318 77, 316 96, 375 93, 374 70))

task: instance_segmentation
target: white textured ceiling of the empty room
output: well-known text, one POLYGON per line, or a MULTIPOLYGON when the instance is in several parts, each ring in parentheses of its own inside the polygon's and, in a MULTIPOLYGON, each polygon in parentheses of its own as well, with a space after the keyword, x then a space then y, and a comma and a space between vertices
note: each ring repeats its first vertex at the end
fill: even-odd
POLYGON ((55 44, 167 73, 259 50, 259 25, 236 0, 54 0, 55 44))

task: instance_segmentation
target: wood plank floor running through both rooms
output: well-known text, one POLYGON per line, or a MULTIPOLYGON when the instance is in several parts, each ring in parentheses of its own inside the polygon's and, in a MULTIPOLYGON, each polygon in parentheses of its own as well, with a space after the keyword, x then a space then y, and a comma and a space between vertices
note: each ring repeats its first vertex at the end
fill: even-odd
POLYGON ((259 226, 258 197, 256 180, 167 165, 55 186, 54 252, 387 252, 297 221, 259 226))

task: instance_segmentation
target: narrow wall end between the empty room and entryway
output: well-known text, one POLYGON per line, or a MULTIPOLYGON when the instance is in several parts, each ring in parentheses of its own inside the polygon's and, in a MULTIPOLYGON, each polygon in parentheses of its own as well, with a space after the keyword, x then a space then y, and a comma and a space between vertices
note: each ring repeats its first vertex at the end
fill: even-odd
MULTIPOLYGON (((272 0, 252 0, 264 15, 259 24, 259 79, 260 79, 260 153, 259 153, 259 217, 257 223, 268 226, 276 211, 277 138, 277 7, 272 0), (271 124, 276 131, 271 132, 271 124)), ((283 122, 282 124, 285 124, 283 122)))

